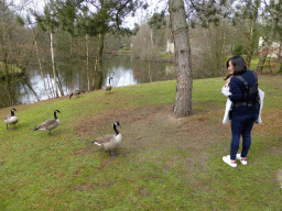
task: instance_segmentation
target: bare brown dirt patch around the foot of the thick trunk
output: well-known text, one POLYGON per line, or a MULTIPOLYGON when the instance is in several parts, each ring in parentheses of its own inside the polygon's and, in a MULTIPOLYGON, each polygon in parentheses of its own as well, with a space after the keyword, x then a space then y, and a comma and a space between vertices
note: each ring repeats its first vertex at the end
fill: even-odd
MULTIPOLYGON (((215 140, 226 136, 229 126, 221 124, 221 116, 210 122, 209 113, 203 116, 174 119, 171 115, 172 104, 110 110, 98 116, 89 116, 76 125, 76 134, 84 137, 98 137, 113 133, 112 124, 118 120, 122 127, 123 146, 129 148, 147 147, 148 145, 173 145, 182 143, 182 147, 203 147, 215 140), (220 119, 220 121, 219 121, 220 119), (189 142, 183 143, 182 141, 189 142)), ((160 146, 162 147, 162 146, 160 146)))

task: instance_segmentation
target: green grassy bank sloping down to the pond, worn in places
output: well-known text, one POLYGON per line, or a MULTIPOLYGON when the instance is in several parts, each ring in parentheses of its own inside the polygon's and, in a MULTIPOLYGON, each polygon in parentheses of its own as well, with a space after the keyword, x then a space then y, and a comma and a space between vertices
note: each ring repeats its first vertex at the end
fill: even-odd
POLYGON ((142 108, 174 102, 173 80, 17 106, 17 130, 0 123, 0 210, 282 210, 281 81, 259 77, 263 124, 254 126, 248 165, 237 168, 221 160, 230 144, 223 78, 194 80, 194 114, 182 124, 142 120, 142 108), (33 131, 56 109, 54 136, 33 131), (123 143, 111 159, 91 141, 111 133, 118 116, 123 143))

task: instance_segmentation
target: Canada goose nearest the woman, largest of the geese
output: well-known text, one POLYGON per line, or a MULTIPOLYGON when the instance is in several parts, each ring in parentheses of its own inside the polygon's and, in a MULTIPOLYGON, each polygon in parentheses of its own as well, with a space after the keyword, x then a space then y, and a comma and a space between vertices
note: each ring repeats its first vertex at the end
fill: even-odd
POLYGON ((93 143, 99 145, 102 149, 109 151, 109 154, 112 158, 116 157, 115 149, 118 145, 121 144, 122 136, 119 133, 117 126, 121 127, 119 121, 113 122, 113 131, 116 134, 108 134, 101 137, 97 137, 93 143))

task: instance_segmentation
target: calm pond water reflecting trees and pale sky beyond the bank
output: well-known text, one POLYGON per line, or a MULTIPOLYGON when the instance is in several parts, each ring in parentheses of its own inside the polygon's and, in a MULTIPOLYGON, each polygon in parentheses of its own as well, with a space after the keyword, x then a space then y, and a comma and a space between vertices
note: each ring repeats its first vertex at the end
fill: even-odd
MULTIPOLYGON (((59 60, 56 62, 56 68, 65 96, 76 88, 88 90, 86 60, 59 60)), ((90 68, 94 68, 94 64, 90 64, 90 68)), ((46 100, 48 96, 54 97, 51 67, 46 67, 43 74, 48 96, 39 66, 32 66, 28 71, 29 74, 22 78, 0 82, 0 108, 46 100)), ((112 77, 113 88, 175 79, 174 64, 142 62, 129 55, 105 57, 102 73, 102 89, 109 81, 109 77, 112 77)), ((93 76, 89 78, 93 79, 93 76)))

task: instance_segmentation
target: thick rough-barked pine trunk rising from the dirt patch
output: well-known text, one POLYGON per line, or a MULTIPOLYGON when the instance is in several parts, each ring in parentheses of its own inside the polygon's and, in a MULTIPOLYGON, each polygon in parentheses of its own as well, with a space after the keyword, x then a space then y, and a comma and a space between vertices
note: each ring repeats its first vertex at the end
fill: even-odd
POLYGON ((192 111, 192 68, 188 25, 183 0, 169 0, 176 59, 176 96, 173 116, 182 118, 192 111))

